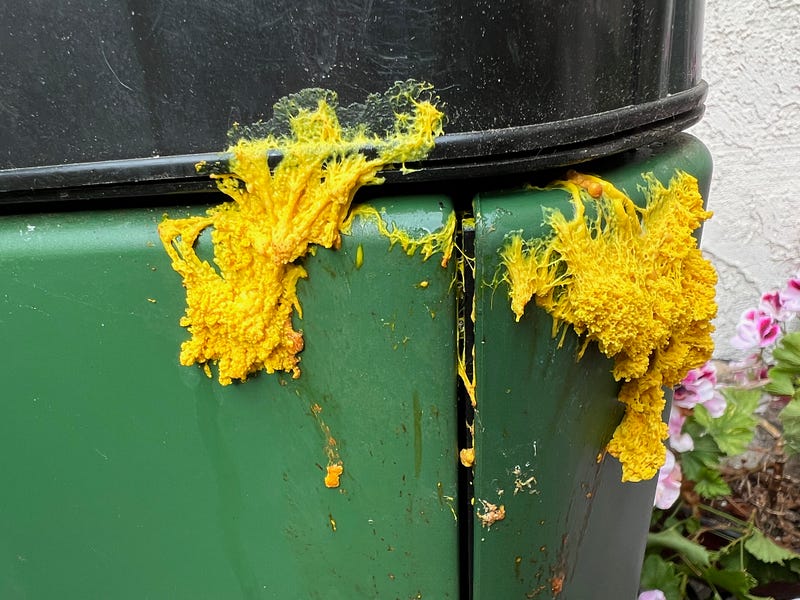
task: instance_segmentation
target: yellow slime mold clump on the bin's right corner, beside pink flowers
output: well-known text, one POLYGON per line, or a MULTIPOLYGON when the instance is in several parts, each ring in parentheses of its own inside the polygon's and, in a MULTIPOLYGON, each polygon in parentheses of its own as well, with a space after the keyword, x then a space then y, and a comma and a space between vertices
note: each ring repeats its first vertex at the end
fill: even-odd
POLYGON ((610 183, 570 173, 551 187, 571 194, 574 216, 553 212, 552 235, 512 236, 502 252, 517 320, 535 298, 554 335, 571 326, 583 349, 594 342, 614 359, 626 410, 608 452, 623 481, 650 479, 664 463, 663 387, 711 357, 717 311, 716 272, 692 235, 711 216, 697 180, 678 172, 666 187, 652 174, 644 181, 639 208, 610 183))

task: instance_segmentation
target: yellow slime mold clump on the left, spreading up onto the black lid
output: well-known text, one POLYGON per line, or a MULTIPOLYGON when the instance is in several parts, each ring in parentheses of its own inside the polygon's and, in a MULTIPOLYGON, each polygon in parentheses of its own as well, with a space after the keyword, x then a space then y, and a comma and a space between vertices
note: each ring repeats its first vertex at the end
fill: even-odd
POLYGON ((356 191, 381 183, 381 169, 423 159, 442 119, 431 86, 409 81, 341 110, 333 92, 307 90, 279 101, 272 121, 234 129, 244 135, 228 149, 231 172, 212 175, 232 201, 159 226, 186 288, 181 325, 191 338, 181 364, 216 363, 223 385, 259 370, 298 377, 303 337, 292 316, 302 317, 301 259, 316 246, 337 248, 356 191), (383 125, 360 120, 378 109, 383 125), (195 252, 207 228, 213 265, 195 252))

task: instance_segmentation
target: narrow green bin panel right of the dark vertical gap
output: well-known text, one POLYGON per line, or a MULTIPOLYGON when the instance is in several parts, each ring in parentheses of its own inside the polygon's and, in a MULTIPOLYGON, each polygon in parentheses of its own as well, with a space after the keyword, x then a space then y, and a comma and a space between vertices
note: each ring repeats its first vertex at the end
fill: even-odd
MULTIPOLYGON (((711 161, 700 142, 681 135, 617 164, 579 169, 642 202, 648 171, 667 183, 685 170, 705 197, 711 161)), ((597 460, 623 413, 611 361, 590 347, 576 362, 574 335, 557 348, 552 319, 532 305, 515 323, 507 286, 490 284, 507 234, 544 235, 545 208, 572 214, 562 191, 483 194, 475 202, 474 494, 476 508, 481 500, 503 505, 506 516, 489 528, 475 521, 474 598, 633 600, 655 480, 623 484, 615 459, 597 460)))

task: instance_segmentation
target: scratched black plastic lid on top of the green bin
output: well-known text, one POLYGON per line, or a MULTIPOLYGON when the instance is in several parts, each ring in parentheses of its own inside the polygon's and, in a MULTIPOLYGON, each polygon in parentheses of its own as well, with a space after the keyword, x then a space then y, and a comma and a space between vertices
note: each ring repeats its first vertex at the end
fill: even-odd
POLYGON ((233 122, 307 87, 430 81, 446 135, 411 179, 519 172, 702 115, 697 0, 38 0, 0 7, 0 193, 203 186, 233 122))

